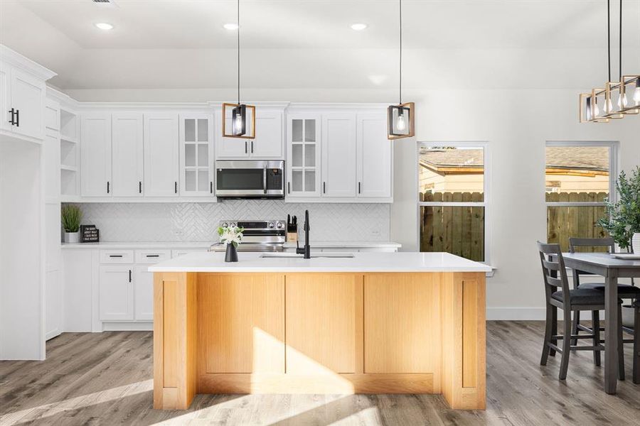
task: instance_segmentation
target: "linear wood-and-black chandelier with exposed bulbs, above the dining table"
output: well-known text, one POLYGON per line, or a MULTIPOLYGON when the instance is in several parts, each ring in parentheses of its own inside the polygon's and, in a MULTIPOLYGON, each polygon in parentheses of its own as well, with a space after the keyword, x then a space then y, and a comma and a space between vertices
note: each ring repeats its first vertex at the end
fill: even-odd
POLYGON ((619 80, 611 81, 611 4, 607 0, 607 55, 609 79, 604 88, 580 94, 580 123, 608 123, 626 115, 640 114, 640 75, 622 74, 622 0, 620 0, 619 80), (614 103, 612 98, 616 97, 614 103))

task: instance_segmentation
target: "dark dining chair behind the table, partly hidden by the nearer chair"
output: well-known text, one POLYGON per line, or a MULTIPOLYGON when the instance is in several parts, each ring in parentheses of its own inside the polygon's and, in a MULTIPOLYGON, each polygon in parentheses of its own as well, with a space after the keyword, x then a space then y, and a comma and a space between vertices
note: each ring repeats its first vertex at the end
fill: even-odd
MULTIPOLYGON (((611 237, 609 238, 575 238, 570 237, 569 239, 569 253, 575 253, 575 249, 577 247, 607 247, 609 253, 614 253, 615 251, 615 241, 611 237)), ((580 275, 591 275, 591 273, 585 271, 573 271, 573 288, 590 288, 594 290, 604 291, 604 281, 597 283, 580 283, 580 275)), ((631 285, 629 284, 618 284, 618 297, 621 299, 640 299, 640 288, 634 285, 634 280, 631 278, 631 285)), ((623 330, 628 333, 634 333, 634 330, 629 329, 628 327, 623 327, 623 330)), ((576 312, 573 317, 572 324, 572 334, 579 334, 580 331, 592 333, 592 329, 589 327, 585 327, 580 324, 580 312, 576 312)), ((576 344, 576 340, 572 340, 572 344, 576 344)), ((626 343, 631 342, 631 340, 627 340, 626 343)))

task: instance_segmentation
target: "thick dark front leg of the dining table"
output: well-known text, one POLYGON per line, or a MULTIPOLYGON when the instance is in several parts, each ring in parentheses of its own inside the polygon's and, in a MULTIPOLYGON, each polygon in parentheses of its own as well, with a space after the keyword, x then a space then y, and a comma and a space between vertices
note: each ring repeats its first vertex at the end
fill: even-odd
POLYGON ((613 395, 618 384, 618 277, 609 270, 604 277, 604 391, 613 395))

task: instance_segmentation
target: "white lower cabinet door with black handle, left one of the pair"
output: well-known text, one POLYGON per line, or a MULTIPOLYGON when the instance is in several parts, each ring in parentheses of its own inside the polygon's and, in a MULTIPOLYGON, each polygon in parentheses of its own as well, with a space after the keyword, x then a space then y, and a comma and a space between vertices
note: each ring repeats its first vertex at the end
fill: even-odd
POLYGON ((134 320, 133 265, 100 266, 100 320, 134 320))

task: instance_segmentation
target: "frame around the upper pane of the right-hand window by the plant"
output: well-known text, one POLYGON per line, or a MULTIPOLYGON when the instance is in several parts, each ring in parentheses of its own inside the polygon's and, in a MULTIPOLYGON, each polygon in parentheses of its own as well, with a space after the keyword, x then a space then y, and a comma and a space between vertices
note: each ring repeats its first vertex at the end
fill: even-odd
MULTIPOLYGON (((609 198, 611 202, 616 202, 616 180, 618 178, 618 161, 619 161, 619 148, 620 143, 618 141, 546 141, 545 142, 545 163, 544 163, 544 176, 546 182, 547 175, 547 148, 548 147, 597 147, 606 146, 609 148, 609 198)), ((604 202, 590 202, 590 201, 547 201, 546 200, 546 185, 545 187, 545 210, 548 207, 590 207, 590 206, 604 206, 604 202)))

